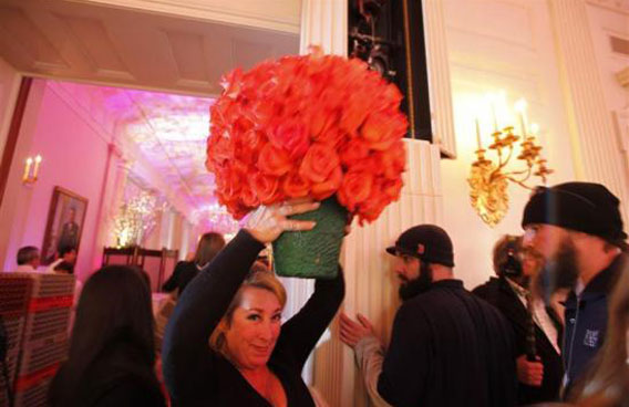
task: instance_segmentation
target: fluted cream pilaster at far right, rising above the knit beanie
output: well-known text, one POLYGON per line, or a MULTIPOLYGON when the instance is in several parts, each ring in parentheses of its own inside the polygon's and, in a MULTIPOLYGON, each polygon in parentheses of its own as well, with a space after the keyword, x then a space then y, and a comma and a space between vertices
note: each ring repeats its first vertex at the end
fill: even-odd
POLYGON ((561 85, 568 109, 573 156, 578 179, 601 182, 618 196, 629 216, 629 175, 613 136, 585 0, 549 0, 559 53, 561 85))

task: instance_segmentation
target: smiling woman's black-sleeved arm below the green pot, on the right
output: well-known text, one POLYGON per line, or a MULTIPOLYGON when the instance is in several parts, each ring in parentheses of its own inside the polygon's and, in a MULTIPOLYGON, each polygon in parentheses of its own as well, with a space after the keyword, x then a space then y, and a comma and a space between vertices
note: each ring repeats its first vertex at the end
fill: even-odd
POLYGON ((297 368, 301 369, 317 341, 337 314, 344 295, 346 282, 341 267, 336 279, 317 280, 314 293, 306 305, 281 326, 276 346, 278 355, 291 358, 297 368))

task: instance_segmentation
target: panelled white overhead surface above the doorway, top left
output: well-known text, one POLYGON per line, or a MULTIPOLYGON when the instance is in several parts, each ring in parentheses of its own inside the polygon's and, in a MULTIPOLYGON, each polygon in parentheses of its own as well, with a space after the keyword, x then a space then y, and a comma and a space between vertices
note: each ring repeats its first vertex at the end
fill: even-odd
POLYGON ((296 33, 93 2, 0 0, 0 56, 35 76, 216 95, 226 71, 298 50, 296 33))

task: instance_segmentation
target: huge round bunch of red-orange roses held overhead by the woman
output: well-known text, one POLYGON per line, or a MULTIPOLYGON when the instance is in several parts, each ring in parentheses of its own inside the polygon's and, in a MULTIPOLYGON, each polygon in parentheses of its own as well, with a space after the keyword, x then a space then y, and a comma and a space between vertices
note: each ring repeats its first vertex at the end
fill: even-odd
POLYGON ((234 218, 310 196, 332 198, 362 225, 400 197, 408 127, 402 94, 364 62, 316 50, 236 69, 221 85, 210 108, 206 166, 234 218))

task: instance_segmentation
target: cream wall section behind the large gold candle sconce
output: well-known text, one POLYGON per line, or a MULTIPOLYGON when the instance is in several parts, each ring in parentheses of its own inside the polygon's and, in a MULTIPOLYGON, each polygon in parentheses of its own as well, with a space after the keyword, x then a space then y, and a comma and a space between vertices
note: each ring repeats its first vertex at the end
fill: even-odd
MULTIPOLYGON (((458 157, 442 160, 443 225, 454 240, 455 272, 472 289, 492 274, 494 242, 504 233, 522 233, 529 194, 509 186, 511 208, 495 229, 470 204, 466 179, 475 159, 475 109, 484 94, 504 90, 511 102, 527 100, 528 116, 540 125, 544 155, 555 170, 550 185, 573 179, 574 170, 546 0, 445 0, 444 9, 458 157)), ((485 128, 486 146, 491 125, 485 128)))

